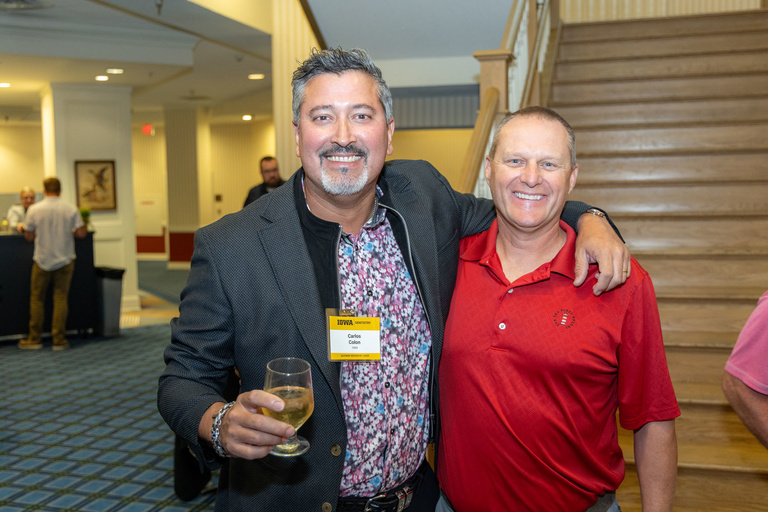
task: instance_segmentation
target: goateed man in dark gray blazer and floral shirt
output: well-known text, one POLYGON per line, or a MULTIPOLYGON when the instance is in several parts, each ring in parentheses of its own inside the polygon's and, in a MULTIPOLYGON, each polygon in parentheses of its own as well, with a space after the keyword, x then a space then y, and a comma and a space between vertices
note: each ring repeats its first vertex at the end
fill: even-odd
MULTIPOLYGON (((315 51, 293 76, 302 161, 265 199, 200 229, 160 378, 158 406, 201 464, 224 460, 216 510, 432 511, 425 454, 438 434, 437 363, 459 241, 486 229, 493 203, 459 194, 431 165, 391 161, 392 99, 361 50, 315 51), (380 323, 377 361, 331 362, 329 315, 380 323), (294 428, 262 414, 267 363, 312 365, 311 448, 270 455, 294 428), (223 390, 235 367, 240 395, 223 390)), ((545 199, 542 197, 542 199, 545 199)), ((605 219, 566 207, 597 259, 600 293, 629 263, 605 219), (584 233, 588 233, 585 237, 584 233)))

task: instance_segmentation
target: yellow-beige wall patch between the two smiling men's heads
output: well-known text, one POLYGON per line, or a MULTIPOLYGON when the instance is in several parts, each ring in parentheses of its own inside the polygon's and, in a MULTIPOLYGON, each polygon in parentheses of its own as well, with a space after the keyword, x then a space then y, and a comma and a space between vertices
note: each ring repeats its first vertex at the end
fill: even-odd
POLYGON ((388 159, 426 160, 448 178, 453 188, 457 188, 471 136, 471 129, 395 130, 392 136, 394 152, 388 159))

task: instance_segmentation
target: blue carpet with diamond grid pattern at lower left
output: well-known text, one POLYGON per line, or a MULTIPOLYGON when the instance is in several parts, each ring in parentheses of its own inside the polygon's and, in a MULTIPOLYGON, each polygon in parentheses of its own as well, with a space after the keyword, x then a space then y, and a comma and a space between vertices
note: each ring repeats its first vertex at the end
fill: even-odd
POLYGON ((70 340, 70 350, 0 345, 0 511, 213 510, 178 500, 173 434, 156 407, 170 327, 70 340))

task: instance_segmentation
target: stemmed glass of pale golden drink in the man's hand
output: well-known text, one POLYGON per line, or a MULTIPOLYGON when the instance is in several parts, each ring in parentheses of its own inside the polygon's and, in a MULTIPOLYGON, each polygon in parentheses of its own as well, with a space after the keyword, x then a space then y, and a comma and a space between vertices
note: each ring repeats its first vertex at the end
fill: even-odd
MULTIPOLYGON (((280 412, 262 407, 265 415, 291 425, 296 431, 312 415, 315 398, 312 393, 312 370, 309 363, 296 357, 281 357, 267 363, 264 391, 285 402, 280 412)), ((279 444, 272 454, 295 457, 309 450, 309 441, 295 433, 285 444, 279 444)))

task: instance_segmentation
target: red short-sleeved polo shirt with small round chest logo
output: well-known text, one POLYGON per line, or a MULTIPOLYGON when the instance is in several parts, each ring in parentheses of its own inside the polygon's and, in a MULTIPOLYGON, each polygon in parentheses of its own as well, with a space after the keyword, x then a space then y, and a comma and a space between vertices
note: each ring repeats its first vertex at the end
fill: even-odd
POLYGON ((457 511, 582 511, 624 479, 621 426, 680 415, 647 272, 576 288, 576 236, 510 283, 496 222, 461 242, 440 360, 438 475, 457 511))

